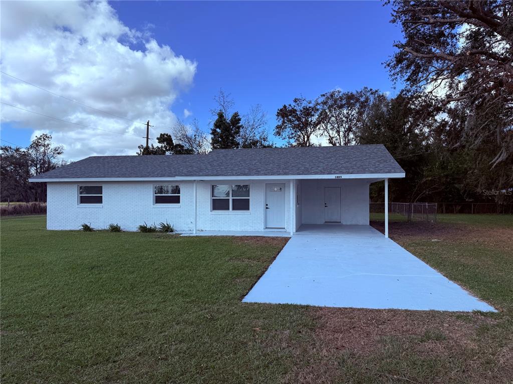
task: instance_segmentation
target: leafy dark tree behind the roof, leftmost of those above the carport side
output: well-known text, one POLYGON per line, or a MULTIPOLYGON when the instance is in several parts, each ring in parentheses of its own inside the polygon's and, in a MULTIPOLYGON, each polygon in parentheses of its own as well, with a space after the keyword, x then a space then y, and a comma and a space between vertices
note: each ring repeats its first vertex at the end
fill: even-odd
POLYGON ((312 136, 319 133, 320 105, 317 100, 297 97, 276 113, 278 125, 274 134, 291 146, 312 146, 312 136))

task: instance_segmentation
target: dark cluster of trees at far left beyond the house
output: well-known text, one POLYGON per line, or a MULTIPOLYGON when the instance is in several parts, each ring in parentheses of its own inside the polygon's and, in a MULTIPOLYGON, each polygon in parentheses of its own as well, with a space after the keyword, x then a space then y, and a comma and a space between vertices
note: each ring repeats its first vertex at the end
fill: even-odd
POLYGON ((40 175, 66 162, 61 159, 62 145, 53 145, 48 134, 36 136, 27 148, 0 148, 0 183, 2 201, 46 201, 46 184, 30 183, 29 178, 40 175))

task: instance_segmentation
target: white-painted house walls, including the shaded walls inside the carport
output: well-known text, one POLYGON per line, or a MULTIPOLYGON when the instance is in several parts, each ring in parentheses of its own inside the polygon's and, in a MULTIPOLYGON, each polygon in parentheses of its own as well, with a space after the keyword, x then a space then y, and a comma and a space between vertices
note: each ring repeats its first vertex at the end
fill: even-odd
MULTIPOLYGON (((80 185, 103 185, 101 206, 78 205, 78 183, 48 183, 48 229, 78 229, 82 223, 104 229, 120 224, 136 230, 146 222, 168 222, 179 232, 191 232, 194 225, 192 181, 180 184, 179 205, 154 205, 153 185, 162 182, 103 182, 80 185)), ((324 223, 324 186, 342 187, 342 224, 369 223, 370 180, 293 180, 292 215, 290 215, 290 180, 198 181, 196 228, 202 230, 247 230, 265 228, 265 184, 285 184, 285 230, 297 230, 301 224, 324 223), (249 211, 212 211, 212 184, 249 184, 249 211)))

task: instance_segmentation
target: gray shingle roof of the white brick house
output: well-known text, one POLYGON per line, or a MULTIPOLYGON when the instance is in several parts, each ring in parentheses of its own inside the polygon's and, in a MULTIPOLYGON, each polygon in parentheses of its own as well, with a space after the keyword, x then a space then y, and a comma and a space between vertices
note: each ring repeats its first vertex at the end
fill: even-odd
POLYGON ((404 173, 382 144, 214 150, 208 155, 92 156, 37 179, 404 173))

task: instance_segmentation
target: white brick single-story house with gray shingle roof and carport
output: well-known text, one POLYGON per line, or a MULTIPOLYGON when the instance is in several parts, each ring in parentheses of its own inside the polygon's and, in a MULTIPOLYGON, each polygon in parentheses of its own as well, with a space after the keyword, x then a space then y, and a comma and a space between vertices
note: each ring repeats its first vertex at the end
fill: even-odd
POLYGON ((95 156, 30 181, 48 184, 47 229, 168 222, 292 235, 302 224, 368 225, 369 185, 402 177, 383 145, 357 145, 95 156))

